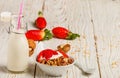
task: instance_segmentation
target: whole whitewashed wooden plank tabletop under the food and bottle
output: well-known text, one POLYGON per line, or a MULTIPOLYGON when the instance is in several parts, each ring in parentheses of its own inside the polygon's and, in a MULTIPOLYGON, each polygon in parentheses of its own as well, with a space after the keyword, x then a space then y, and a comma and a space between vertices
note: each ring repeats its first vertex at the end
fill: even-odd
MULTIPOLYGON (((0 12, 17 14, 20 2, 0 0, 0 12)), ((120 78, 120 0, 25 0, 23 15, 29 29, 34 29, 32 23, 39 10, 44 13, 48 29, 64 26, 81 35, 73 41, 51 39, 46 43, 52 46, 72 44, 69 54, 82 66, 96 69, 93 74, 85 75, 73 66, 62 78, 120 78)), ((39 69, 33 57, 25 73, 7 71, 8 27, 9 23, 0 21, 0 78, 53 78, 39 69)))

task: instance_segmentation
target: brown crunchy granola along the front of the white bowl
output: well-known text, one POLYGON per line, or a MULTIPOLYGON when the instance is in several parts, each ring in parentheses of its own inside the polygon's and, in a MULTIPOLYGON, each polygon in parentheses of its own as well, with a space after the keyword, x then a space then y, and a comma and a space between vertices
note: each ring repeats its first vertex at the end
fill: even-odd
POLYGON ((64 58, 63 56, 56 58, 56 59, 50 59, 50 60, 45 60, 42 59, 40 63, 50 65, 50 66, 65 66, 72 64, 74 60, 72 58, 64 58))

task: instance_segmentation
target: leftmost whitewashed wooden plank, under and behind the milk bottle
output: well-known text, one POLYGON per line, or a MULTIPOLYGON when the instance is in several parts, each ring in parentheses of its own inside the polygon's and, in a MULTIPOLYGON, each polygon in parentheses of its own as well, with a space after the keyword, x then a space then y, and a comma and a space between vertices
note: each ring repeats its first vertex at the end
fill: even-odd
MULTIPOLYGON (((18 14, 19 12, 19 5, 20 0, 0 0, 0 12, 3 11, 10 11, 12 14, 18 14)), ((25 19, 27 19, 28 28, 31 29, 32 23, 31 21, 34 21, 37 17, 37 12, 40 10, 42 5, 42 0, 25 0, 25 6, 24 6, 24 12, 23 15, 25 15, 25 19)), ((21 74, 13 74, 9 73, 6 69, 6 59, 7 59, 7 52, 5 51, 7 41, 8 41, 8 27, 10 26, 10 23, 3 23, 0 22, 0 78, 33 78, 34 77, 34 70, 35 70, 35 63, 33 60, 33 57, 30 57, 29 60, 29 67, 25 71, 25 73, 21 74)))

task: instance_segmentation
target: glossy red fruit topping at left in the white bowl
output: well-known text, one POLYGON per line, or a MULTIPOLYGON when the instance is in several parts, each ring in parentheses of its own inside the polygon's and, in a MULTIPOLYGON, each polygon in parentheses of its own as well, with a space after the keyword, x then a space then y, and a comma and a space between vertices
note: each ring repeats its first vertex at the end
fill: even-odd
POLYGON ((57 55, 57 54, 58 53, 52 49, 42 50, 37 57, 37 61, 40 62, 41 57, 45 58, 46 60, 49 60, 50 57, 52 57, 53 55, 57 55))

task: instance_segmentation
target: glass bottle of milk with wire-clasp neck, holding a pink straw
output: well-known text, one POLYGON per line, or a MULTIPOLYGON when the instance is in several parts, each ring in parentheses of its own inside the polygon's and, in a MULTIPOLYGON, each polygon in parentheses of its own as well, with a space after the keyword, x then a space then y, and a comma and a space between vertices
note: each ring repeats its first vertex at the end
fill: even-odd
POLYGON ((28 67, 29 46, 25 36, 26 25, 21 20, 17 30, 17 16, 12 16, 8 40, 7 69, 12 72, 23 72, 28 67))

